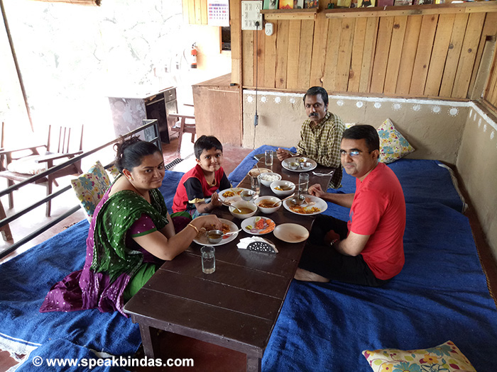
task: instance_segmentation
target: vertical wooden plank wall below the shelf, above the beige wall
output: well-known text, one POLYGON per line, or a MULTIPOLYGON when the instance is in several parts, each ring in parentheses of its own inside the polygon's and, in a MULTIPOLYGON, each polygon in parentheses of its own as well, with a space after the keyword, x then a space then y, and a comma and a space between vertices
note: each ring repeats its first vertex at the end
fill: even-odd
MULTIPOLYGON (((236 82, 278 91, 318 85, 334 94, 464 99, 496 21, 496 13, 326 18, 319 12, 315 20, 271 21, 271 36, 241 30, 236 82)), ((497 66, 492 72, 495 83, 497 66)), ((495 85, 487 95, 497 101, 495 85)))

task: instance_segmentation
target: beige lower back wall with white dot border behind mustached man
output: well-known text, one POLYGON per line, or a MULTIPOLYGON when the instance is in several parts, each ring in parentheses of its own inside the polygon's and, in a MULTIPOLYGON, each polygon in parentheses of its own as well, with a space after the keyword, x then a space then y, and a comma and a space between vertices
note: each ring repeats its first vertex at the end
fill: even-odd
MULTIPOLYGON (((255 130, 256 92, 244 91, 244 147, 297 145, 305 120, 303 94, 258 91, 259 124, 255 130)), ((470 103, 400 98, 329 96, 328 110, 344 123, 371 124, 390 118, 416 149, 408 157, 455 164, 470 103)))

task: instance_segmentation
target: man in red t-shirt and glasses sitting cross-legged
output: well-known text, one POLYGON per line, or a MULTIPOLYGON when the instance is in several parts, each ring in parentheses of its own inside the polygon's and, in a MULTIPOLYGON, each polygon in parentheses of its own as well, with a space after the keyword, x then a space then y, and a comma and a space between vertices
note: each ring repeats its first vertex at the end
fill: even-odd
POLYGON ((326 193, 319 184, 311 195, 350 208, 349 221, 318 216, 295 278, 381 286, 404 266, 405 199, 393 171, 378 163, 380 141, 371 125, 344 131, 340 154, 355 193, 326 193))

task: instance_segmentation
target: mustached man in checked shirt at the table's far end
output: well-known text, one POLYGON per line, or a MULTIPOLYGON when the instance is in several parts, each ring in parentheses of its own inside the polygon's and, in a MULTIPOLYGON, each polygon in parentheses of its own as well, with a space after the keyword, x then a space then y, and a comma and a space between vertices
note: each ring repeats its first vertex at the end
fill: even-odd
POLYGON ((297 154, 278 148, 278 159, 302 155, 314 159, 324 167, 336 168, 329 187, 339 188, 342 181, 342 166, 340 164, 340 141, 345 125, 342 119, 328 110, 328 93, 321 86, 312 86, 303 98, 305 113, 308 119, 300 129, 300 141, 297 154))

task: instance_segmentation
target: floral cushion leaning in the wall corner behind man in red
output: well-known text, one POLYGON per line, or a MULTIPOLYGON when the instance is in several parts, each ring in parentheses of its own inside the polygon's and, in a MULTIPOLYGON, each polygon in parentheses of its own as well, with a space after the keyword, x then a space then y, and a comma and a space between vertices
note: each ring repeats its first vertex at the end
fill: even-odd
POLYGON ((387 119, 378 128, 380 136, 380 162, 389 164, 405 157, 415 149, 408 140, 395 128, 392 121, 387 119))

